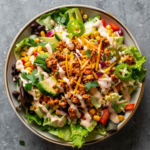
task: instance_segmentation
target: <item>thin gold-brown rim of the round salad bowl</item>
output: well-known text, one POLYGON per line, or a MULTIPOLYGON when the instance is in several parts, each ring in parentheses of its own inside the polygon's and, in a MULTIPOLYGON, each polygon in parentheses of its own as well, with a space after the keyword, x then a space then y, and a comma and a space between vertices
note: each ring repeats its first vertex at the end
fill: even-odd
MULTIPOLYGON (((34 21, 36 20, 37 18, 39 18, 41 15, 45 14, 45 13, 48 13, 48 12, 51 12, 51 11, 54 11, 54 10, 57 10, 57 9, 60 9, 61 7, 78 7, 78 8, 88 8, 88 9, 91 9, 91 10, 95 10, 95 11, 98 11, 98 12, 101 12, 109 17, 111 17, 113 20, 115 20, 117 23, 119 23, 123 28, 124 30, 126 30, 127 34, 130 36, 130 38, 132 39, 133 43, 135 44, 136 48, 140 51, 140 48, 136 42, 136 40, 134 39, 133 35, 131 34, 131 32, 129 31, 129 29, 119 20, 117 19, 115 16, 113 16, 112 14, 102 10, 102 9, 99 9, 99 8, 96 8, 96 7, 93 7, 93 6, 88 6, 88 5, 79 5, 79 4, 71 4, 71 5, 63 5, 63 6, 58 6, 58 7, 54 7, 52 9, 49 9, 47 11, 44 11, 42 13, 40 13, 39 15, 37 15, 36 17, 34 17, 33 19, 31 19, 20 31, 19 33, 16 35, 15 39, 13 40, 10 48, 9 48, 9 51, 7 53, 7 57, 6 57, 6 61, 5 61, 5 68, 4 68, 4 84, 5 84, 5 89, 6 89, 6 93, 7 93, 7 97, 9 99, 9 102, 14 110, 14 112, 16 113, 16 115, 18 116, 18 118, 21 120, 21 122, 29 129, 31 130, 33 133, 35 133, 36 135, 38 135, 39 137, 49 141, 49 142, 52 142, 52 143, 55 143, 55 144, 59 144, 59 145, 64 145, 64 146, 72 146, 72 143, 68 143, 68 142, 61 142, 61 141, 57 141, 57 140, 54 140, 54 139, 51 139, 51 138, 47 138, 46 136, 44 136, 43 134, 39 133, 37 130, 35 130, 29 123, 27 123, 25 121, 25 119, 17 112, 16 108, 15 108, 15 105, 13 103, 13 100, 12 100, 12 97, 11 97, 11 93, 9 91, 9 86, 8 86, 8 82, 7 82, 7 68, 8 68, 8 60, 10 58, 10 54, 11 54, 11 51, 13 50, 13 47, 14 47, 14 44, 16 43, 16 41, 18 40, 18 38, 20 37, 20 35, 22 34, 22 32, 24 32, 27 27, 34 21)), ((140 51, 141 52, 141 51, 140 51)), ((102 140, 105 140, 107 138, 109 138, 110 136, 114 135, 115 133, 117 133, 120 129, 122 129, 126 124, 127 122, 129 122, 129 120, 132 118, 133 114, 135 113, 135 111, 137 110, 139 104, 140 104, 140 101, 142 99, 142 95, 143 95, 143 92, 144 92, 144 86, 145 86, 145 80, 143 80, 143 83, 142 83, 142 87, 141 87, 141 91, 140 91, 140 95, 139 95, 139 98, 138 98, 138 101, 136 103, 136 106, 134 108, 134 110, 132 111, 132 113, 128 116, 128 118, 126 119, 126 121, 124 121, 124 123, 122 123, 119 127, 118 127, 118 130, 116 132, 111 132, 109 134, 107 134, 106 136, 102 137, 102 138, 99 138, 99 139, 96 139, 96 140, 93 140, 93 141, 90 141, 90 142, 86 142, 84 145, 89 145, 89 144, 94 144, 94 143, 97 143, 97 142, 100 142, 102 140)))

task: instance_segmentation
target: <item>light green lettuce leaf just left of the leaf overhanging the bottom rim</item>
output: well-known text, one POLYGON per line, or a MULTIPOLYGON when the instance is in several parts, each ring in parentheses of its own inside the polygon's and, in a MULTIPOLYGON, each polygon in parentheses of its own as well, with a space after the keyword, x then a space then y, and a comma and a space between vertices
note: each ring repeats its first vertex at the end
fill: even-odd
POLYGON ((62 138, 65 141, 72 141, 72 133, 70 130, 70 126, 65 125, 64 127, 50 127, 49 133, 56 135, 62 138))

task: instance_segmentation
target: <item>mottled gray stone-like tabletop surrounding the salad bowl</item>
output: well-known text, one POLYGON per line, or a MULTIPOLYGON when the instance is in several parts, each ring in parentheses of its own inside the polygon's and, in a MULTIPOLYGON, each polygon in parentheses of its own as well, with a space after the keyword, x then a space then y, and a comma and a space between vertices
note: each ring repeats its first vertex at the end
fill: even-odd
POLYGON ((149 0, 0 0, 0 150, 63 150, 70 147, 49 143, 29 131, 11 108, 4 87, 4 63, 11 42, 33 17, 52 7, 86 4, 104 9, 119 18, 132 32, 148 60, 142 101, 129 123, 117 134, 86 150, 150 149, 150 1, 149 0), (19 141, 24 140, 25 146, 19 141))

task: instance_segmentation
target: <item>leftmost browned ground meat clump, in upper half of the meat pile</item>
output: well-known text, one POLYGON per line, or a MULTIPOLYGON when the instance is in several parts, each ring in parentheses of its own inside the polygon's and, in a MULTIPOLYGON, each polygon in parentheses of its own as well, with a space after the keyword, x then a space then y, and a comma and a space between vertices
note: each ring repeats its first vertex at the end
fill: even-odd
POLYGON ((58 60, 56 59, 55 54, 51 54, 50 57, 47 58, 45 61, 47 63, 48 68, 56 69, 58 60))

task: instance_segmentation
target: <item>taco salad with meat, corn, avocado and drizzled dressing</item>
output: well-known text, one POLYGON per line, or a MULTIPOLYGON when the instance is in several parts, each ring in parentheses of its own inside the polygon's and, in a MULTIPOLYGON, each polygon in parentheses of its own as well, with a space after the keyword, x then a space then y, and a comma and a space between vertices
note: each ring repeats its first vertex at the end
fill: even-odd
POLYGON ((122 28, 78 8, 60 8, 31 29, 16 45, 12 65, 12 95, 28 122, 79 148, 89 132, 117 130, 146 75, 146 57, 125 45, 122 28))

